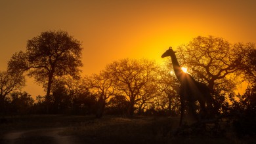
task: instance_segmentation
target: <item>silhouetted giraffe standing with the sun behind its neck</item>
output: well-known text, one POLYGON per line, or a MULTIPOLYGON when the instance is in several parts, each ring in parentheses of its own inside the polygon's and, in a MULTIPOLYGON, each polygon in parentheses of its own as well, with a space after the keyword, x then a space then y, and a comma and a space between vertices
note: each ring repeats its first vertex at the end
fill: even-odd
POLYGON ((206 86, 206 84, 194 80, 191 75, 189 75, 188 73, 184 73, 184 71, 182 71, 181 66, 179 65, 179 62, 175 55, 175 52, 171 47, 169 47, 169 49, 166 50, 165 53, 163 53, 161 58, 165 58, 167 56, 171 56, 173 70, 181 84, 179 88, 179 96, 181 100, 181 118, 179 125, 181 126, 182 124, 185 101, 188 101, 188 107, 191 113, 198 120, 198 122, 200 122, 201 117, 196 113, 195 101, 198 101, 200 103, 200 113, 206 114, 206 108, 213 107, 213 98, 211 96, 211 92, 209 88, 206 86))

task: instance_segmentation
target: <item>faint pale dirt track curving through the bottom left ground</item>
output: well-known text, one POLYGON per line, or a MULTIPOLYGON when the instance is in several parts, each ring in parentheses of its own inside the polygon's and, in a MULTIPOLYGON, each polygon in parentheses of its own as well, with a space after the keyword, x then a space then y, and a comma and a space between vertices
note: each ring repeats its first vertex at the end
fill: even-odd
POLYGON ((77 143, 77 140, 71 136, 63 136, 59 133, 67 128, 43 128, 34 130, 24 130, 19 132, 10 132, 3 135, 1 143, 77 143))

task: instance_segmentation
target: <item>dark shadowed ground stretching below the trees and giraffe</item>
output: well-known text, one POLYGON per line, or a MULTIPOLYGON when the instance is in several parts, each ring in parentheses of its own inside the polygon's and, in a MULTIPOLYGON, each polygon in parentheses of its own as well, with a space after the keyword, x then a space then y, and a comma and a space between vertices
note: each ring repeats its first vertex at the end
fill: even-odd
POLYGON ((256 137, 238 137, 232 126, 220 122, 186 128, 176 134, 179 118, 30 115, 5 117, 0 143, 256 143, 256 137), (213 126, 214 125, 214 126, 213 126), (176 134, 176 135, 175 135, 176 134))

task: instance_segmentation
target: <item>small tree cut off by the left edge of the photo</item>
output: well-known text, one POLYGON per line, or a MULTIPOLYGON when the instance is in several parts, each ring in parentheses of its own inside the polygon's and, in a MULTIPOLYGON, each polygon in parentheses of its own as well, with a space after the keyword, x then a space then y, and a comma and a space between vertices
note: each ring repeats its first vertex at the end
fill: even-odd
POLYGON ((25 85, 25 78, 20 73, 0 71, 0 111, 5 111, 5 98, 25 85))

